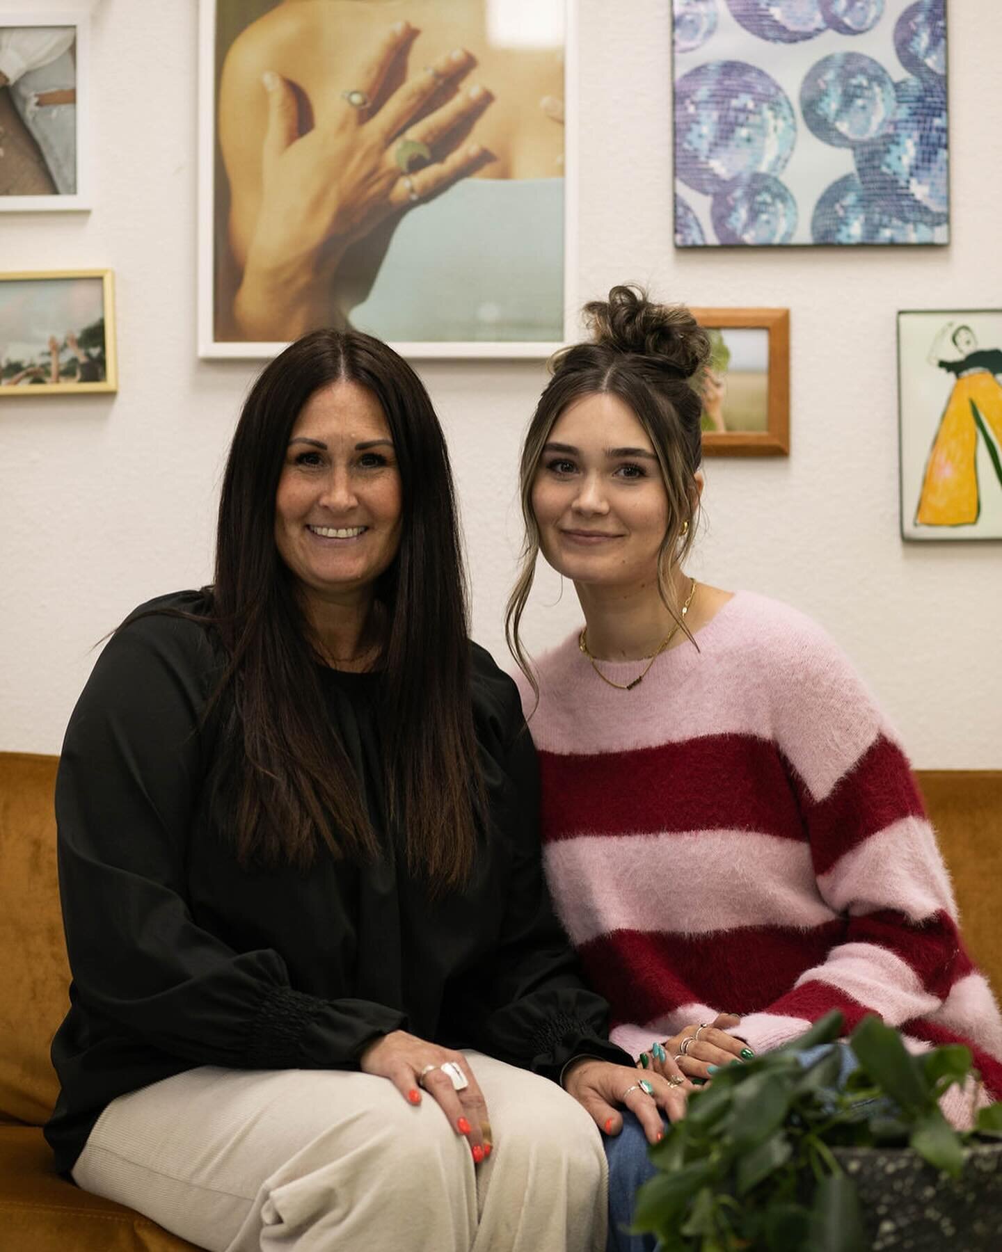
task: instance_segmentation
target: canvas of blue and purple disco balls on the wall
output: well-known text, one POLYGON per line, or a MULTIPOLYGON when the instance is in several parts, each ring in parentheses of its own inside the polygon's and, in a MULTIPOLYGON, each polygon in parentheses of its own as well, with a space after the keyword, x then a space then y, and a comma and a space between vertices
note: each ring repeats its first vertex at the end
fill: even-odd
POLYGON ((944 244, 946 0, 673 0, 675 247, 944 244))

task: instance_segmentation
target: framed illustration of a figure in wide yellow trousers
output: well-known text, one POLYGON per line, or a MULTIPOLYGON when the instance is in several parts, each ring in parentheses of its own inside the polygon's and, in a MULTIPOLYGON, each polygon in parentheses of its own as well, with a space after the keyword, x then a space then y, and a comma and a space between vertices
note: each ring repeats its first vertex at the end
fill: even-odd
POLYGON ((903 540, 1002 540, 1002 309, 898 313, 903 540))

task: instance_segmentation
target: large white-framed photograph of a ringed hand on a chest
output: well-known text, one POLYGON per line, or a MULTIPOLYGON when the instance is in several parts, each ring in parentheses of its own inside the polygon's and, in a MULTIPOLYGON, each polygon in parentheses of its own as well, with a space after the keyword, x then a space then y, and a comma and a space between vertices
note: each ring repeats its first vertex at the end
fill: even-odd
POLYGON ((199 0, 199 353, 576 327, 574 0, 199 0))

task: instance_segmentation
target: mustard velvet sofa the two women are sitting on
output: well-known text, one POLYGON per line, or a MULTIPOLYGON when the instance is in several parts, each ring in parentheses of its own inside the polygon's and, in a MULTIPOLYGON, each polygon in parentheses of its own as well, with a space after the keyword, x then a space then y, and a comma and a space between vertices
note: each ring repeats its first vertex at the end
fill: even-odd
MULTIPOLYGON (((0 752, 0 1246, 18 1252, 182 1252, 194 1244, 60 1178, 41 1127, 56 1097, 49 1043, 66 1010, 53 790, 58 757, 0 752)), ((964 936, 1002 990, 1002 772, 919 782, 964 936)))

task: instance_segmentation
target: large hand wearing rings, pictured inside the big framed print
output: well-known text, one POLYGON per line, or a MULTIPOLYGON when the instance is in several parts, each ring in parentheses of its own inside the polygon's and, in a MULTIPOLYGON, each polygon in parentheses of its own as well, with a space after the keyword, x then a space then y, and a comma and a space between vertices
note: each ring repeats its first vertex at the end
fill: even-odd
POLYGON ((376 105, 415 34, 407 23, 391 28, 359 66, 334 120, 302 136, 292 85, 271 70, 264 74, 262 199, 235 304, 253 337, 287 339, 307 329, 296 322, 302 298, 313 284, 329 284, 349 244, 491 159, 466 141, 491 103, 485 88, 463 88, 432 108, 436 95, 472 68, 463 49, 440 56, 376 105), (407 140, 415 141, 410 162, 398 150, 407 140), (423 164, 417 145, 431 150, 423 164))

